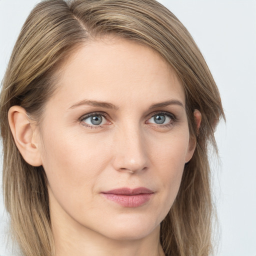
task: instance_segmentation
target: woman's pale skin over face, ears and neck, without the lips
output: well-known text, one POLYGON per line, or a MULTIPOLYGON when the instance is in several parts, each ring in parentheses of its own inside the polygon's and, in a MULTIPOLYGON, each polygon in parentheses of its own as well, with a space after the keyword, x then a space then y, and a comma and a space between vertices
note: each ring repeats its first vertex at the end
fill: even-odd
POLYGON ((40 129, 20 106, 8 118, 24 159, 47 175, 56 256, 164 255, 160 222, 195 142, 181 82, 158 53, 120 38, 89 41, 62 65, 40 129), (122 187, 152 194, 132 207, 102 195, 122 187))

